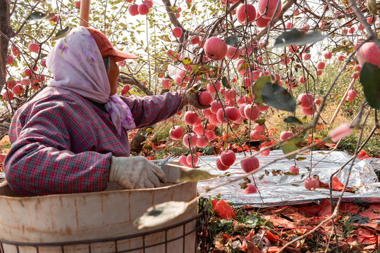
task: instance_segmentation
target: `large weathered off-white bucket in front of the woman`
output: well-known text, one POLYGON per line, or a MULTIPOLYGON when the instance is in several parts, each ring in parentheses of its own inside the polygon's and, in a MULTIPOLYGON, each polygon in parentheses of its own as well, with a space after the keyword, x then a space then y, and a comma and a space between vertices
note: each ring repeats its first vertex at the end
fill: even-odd
MULTIPOLYGON (((174 182, 178 178, 178 168, 168 164, 164 167, 164 171, 167 181, 174 182)), ((185 226, 140 238, 86 243, 89 240, 114 239, 157 230, 157 227, 138 230, 133 226, 133 221, 152 205, 171 200, 188 202, 196 195, 196 182, 169 183, 160 188, 142 190, 120 190, 118 186, 110 185, 103 192, 38 197, 21 197, 13 193, 7 183, 1 183, 0 241, 3 242, 1 246, 4 253, 196 252, 195 220, 186 223, 185 226), (186 233, 189 234, 185 235, 186 233), (178 238, 178 235, 183 236, 178 238), (167 242, 168 240, 173 241, 167 242), (65 242, 73 241, 85 243, 56 247, 38 246, 38 251, 35 246, 25 246, 51 244, 51 242, 62 242, 64 245, 65 242), (159 243, 161 245, 149 247, 159 243), (144 247, 145 250, 128 251, 139 247, 144 247)), ((195 216, 197 216, 196 202, 178 219, 169 221, 163 226, 180 223, 195 216)))

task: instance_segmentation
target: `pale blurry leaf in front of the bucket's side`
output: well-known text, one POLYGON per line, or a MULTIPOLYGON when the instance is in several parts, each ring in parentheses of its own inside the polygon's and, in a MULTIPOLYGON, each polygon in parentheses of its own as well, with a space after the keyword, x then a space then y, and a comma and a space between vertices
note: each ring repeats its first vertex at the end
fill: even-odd
POLYGON ((187 202, 168 201, 147 209, 145 214, 137 218, 133 225, 138 229, 162 225, 176 219, 188 209, 187 202))

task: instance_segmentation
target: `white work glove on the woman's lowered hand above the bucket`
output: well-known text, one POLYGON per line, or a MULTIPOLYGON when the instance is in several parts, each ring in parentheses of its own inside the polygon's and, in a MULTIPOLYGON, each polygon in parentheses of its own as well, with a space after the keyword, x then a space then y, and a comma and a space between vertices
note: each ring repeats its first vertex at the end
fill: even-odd
POLYGON ((143 189, 161 186, 166 182, 164 171, 145 157, 111 157, 109 182, 116 182, 127 189, 143 189))

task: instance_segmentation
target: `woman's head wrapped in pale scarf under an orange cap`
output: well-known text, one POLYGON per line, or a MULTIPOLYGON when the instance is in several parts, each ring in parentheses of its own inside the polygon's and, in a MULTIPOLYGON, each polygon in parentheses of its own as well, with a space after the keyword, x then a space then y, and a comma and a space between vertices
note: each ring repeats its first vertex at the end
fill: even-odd
POLYGON ((106 103, 116 93, 116 62, 126 58, 137 56, 116 50, 102 32, 76 27, 57 41, 47 57, 47 67, 54 75, 48 85, 106 103))

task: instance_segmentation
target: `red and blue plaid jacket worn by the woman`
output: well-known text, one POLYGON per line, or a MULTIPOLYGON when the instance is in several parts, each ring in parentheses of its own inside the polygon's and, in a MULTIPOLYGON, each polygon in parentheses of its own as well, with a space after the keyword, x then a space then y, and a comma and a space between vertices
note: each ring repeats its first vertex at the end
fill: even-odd
MULTIPOLYGON (((178 93, 122 99, 137 128, 183 108, 178 93)), ((47 87, 17 110, 4 161, 11 189, 23 195, 104 190, 111 155, 128 156, 129 144, 127 133, 119 136, 109 113, 98 106, 73 91, 47 87)))

